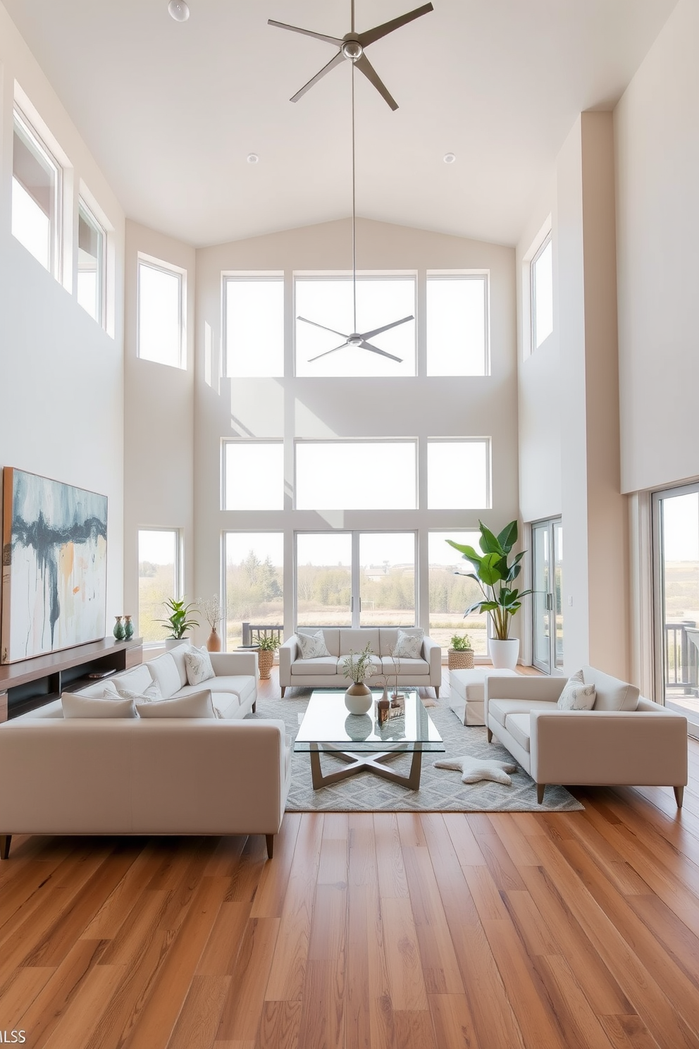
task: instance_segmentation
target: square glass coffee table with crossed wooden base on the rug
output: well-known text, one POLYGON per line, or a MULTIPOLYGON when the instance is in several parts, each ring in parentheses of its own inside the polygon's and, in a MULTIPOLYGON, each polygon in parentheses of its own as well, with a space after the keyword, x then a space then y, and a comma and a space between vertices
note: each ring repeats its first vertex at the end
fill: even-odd
POLYGON ((406 697, 405 714, 379 726, 376 700, 381 692, 373 692, 374 702, 368 713, 357 715, 349 713, 345 693, 340 689, 313 689, 293 745, 294 751, 310 754, 313 790, 340 783, 364 769, 409 790, 418 789, 422 754, 443 752, 444 744, 417 691, 403 688, 401 694, 406 697), (341 758, 347 768, 324 773, 321 751, 341 758), (413 755, 408 775, 387 768, 387 762, 405 753, 413 755))

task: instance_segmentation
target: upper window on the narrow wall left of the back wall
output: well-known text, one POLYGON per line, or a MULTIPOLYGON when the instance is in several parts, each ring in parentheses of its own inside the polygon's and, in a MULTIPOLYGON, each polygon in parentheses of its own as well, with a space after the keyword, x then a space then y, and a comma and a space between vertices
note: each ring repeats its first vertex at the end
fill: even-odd
POLYGON ((138 357, 183 368, 184 273, 138 256, 138 357))

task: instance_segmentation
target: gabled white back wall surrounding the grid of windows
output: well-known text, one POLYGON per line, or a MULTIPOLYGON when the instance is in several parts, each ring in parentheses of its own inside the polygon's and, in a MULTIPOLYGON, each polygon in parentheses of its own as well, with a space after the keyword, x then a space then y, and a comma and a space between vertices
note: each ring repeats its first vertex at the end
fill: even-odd
MULTIPOLYGON (((518 517, 516 303, 512 249, 369 220, 357 221, 359 270, 487 269, 490 273, 488 378, 218 379, 221 352, 221 271, 283 271, 287 285, 287 361, 291 357, 294 270, 347 269, 348 220, 201 249, 197 252, 195 401, 195 569, 197 594, 218 591, 224 530, 335 528, 415 529, 427 550, 429 529, 500 529, 518 517), (220 509, 221 441, 240 434, 284 438, 292 484, 294 437, 493 437, 493 508, 487 511, 353 512, 326 519, 292 509, 232 513, 220 509)), ((419 281, 418 281, 419 283, 419 281)), ((424 302, 418 299, 418 355, 424 360, 424 302)), ((424 447, 424 442, 421 447, 424 447)), ((420 464, 423 466, 424 464, 420 464)), ((380 469, 380 464, 377 464, 380 469)), ((421 471, 422 477, 424 471, 421 471)), ((424 487, 424 480, 422 480, 424 487)), ((420 621, 429 616, 427 557, 420 565, 420 621)), ((292 627, 292 565, 285 564, 286 629, 292 627)))

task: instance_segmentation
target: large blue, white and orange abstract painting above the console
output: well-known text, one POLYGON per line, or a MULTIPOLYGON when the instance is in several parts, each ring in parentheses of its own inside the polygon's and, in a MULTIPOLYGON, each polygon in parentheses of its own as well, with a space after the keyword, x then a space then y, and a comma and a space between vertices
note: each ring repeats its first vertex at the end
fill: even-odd
POLYGON ((104 638, 107 496, 3 474, 2 662, 104 638))

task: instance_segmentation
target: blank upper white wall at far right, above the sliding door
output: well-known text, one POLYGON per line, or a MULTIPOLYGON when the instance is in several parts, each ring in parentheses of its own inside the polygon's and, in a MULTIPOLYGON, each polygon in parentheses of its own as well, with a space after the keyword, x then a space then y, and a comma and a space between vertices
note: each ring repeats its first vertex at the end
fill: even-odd
POLYGON ((699 475, 698 53, 680 0, 614 113, 625 492, 699 475))

